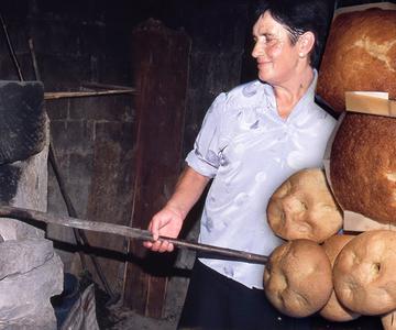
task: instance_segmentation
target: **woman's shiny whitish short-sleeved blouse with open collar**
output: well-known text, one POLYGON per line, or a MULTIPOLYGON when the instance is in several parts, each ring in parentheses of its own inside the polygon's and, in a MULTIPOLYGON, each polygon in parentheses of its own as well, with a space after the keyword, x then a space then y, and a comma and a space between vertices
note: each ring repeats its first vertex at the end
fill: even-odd
MULTIPOLYGON (((321 167, 336 120, 315 101, 315 79, 286 120, 273 88, 255 80, 220 94, 209 108, 187 164, 212 177, 199 242, 270 255, 283 240, 266 220, 274 190, 302 168, 321 167)), ((200 258, 248 287, 263 288, 264 265, 200 258)))

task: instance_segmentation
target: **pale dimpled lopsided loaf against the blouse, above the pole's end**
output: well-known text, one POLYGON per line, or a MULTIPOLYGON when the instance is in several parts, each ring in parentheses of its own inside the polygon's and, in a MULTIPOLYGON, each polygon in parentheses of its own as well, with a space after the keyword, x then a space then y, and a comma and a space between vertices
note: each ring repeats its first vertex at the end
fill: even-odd
POLYGON ((267 221, 285 240, 321 243, 342 227, 342 215, 320 168, 292 175, 270 199, 267 221))

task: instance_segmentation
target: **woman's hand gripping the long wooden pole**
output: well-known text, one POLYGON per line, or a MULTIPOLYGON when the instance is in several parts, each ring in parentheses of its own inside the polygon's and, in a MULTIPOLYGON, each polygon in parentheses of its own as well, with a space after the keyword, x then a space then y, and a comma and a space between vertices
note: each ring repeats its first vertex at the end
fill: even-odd
POLYGON ((184 219, 185 216, 177 208, 166 205, 148 223, 148 230, 153 234, 154 242, 145 241, 143 245, 155 252, 172 252, 174 244, 168 241, 160 242, 158 237, 177 238, 184 219))

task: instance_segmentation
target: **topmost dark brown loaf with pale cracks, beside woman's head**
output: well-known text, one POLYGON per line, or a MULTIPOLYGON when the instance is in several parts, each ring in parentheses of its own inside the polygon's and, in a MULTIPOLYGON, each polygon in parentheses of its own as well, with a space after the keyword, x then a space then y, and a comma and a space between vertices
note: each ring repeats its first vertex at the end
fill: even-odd
POLYGON ((396 10, 372 8, 338 15, 331 24, 317 92, 336 111, 345 91, 387 91, 396 98, 396 10))

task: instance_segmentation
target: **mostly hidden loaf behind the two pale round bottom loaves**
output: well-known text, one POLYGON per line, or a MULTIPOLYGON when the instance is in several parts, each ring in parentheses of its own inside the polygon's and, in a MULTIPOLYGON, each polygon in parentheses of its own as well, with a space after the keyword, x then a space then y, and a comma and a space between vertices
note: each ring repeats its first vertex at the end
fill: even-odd
MULTIPOLYGON (((331 266, 334 265, 336 257, 339 255, 342 248, 353 238, 354 235, 333 235, 324 241, 322 246, 330 260, 331 266)), ((359 314, 349 310, 340 304, 334 290, 332 290, 329 301, 319 314, 324 319, 336 322, 345 322, 360 317, 359 314)))

